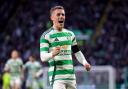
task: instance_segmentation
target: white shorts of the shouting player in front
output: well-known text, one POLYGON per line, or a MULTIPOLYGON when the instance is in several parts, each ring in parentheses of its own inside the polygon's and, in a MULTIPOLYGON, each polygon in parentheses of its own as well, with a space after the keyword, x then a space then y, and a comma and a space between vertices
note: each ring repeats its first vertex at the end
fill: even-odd
POLYGON ((77 89, 76 80, 56 80, 53 89, 77 89))

